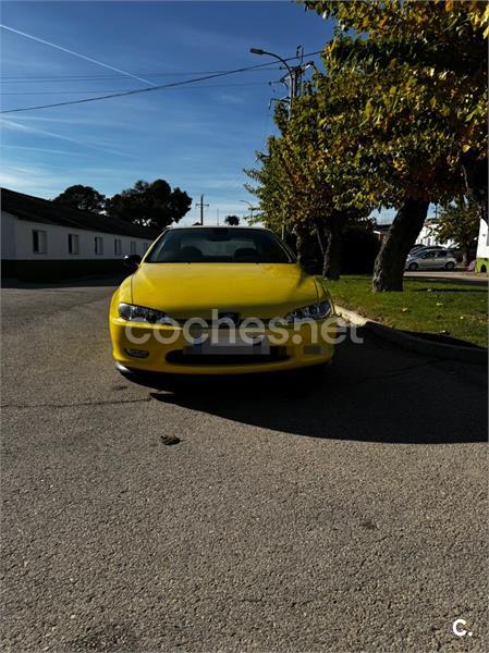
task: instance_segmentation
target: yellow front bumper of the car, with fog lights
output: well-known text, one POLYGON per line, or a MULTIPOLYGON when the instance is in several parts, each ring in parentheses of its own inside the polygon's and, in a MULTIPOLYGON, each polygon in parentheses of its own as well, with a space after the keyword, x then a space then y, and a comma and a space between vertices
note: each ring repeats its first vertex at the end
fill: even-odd
MULTIPOLYGON (((329 362, 334 353, 338 318, 330 316, 328 320, 318 320, 315 324, 316 328, 310 324, 286 328, 285 342, 271 344, 269 355, 258 356, 187 356, 184 352, 187 350, 188 343, 183 329, 129 323, 112 317, 110 335, 112 355, 118 366, 124 369, 175 374, 243 374, 292 370, 329 362), (170 344, 161 342, 170 338, 170 344), (146 358, 137 358, 127 353, 130 349, 143 349, 148 355, 146 358)), ((260 334, 268 337, 274 335, 267 330, 260 334)))

